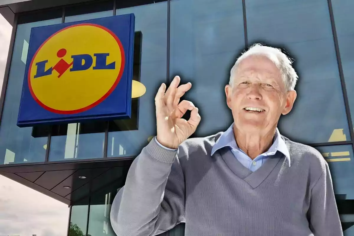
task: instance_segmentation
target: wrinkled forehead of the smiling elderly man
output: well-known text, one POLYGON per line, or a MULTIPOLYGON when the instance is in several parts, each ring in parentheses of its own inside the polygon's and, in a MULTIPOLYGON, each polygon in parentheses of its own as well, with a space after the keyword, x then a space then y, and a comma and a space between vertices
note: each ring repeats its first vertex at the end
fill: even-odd
POLYGON ((243 58, 235 71, 235 77, 244 77, 250 74, 258 74, 261 77, 271 77, 282 82, 281 72, 277 65, 279 63, 276 56, 270 55, 271 59, 265 55, 251 55, 243 58))

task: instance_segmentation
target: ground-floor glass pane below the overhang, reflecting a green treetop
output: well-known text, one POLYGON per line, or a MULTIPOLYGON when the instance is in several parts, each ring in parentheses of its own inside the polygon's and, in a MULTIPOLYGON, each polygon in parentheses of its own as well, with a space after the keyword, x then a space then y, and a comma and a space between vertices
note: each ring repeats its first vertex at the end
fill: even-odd
POLYGON ((70 228, 68 236, 85 236, 87 214, 89 213, 89 198, 85 198, 71 207, 70 228))

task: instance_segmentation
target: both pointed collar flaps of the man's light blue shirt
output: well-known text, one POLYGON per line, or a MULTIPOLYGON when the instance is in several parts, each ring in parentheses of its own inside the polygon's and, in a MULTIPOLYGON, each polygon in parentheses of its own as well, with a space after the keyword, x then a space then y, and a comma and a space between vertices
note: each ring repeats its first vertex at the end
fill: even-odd
MULTIPOLYGON (((234 132, 233 132, 233 126, 234 123, 218 138, 216 143, 213 145, 213 148, 211 149, 211 155, 213 155, 217 150, 224 148, 226 146, 232 147, 236 150, 240 150, 237 146, 234 132)), ((264 156, 271 156, 276 153, 276 151, 280 151, 282 154, 285 155, 287 161, 289 162, 290 166, 290 154, 289 150, 284 142, 284 140, 281 138, 281 134, 279 132, 279 129, 276 128, 275 130, 275 136, 274 136, 274 142, 272 146, 270 146, 269 150, 267 152, 264 152, 262 155, 264 156)))

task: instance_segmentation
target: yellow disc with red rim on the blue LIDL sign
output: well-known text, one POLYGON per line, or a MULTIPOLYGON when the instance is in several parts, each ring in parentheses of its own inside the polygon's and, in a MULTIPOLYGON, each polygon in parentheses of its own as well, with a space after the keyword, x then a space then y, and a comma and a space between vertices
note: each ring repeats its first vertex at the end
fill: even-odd
MULTIPOLYGON (((85 64, 85 61, 82 60, 81 63, 85 64)), ((46 109, 58 113, 77 113, 102 102, 118 84, 123 69, 124 51, 119 39, 102 26, 78 24, 58 31, 42 44, 31 62, 28 82, 32 96, 46 109), (61 49, 65 49, 66 54, 58 57, 57 52, 61 49), (115 62, 115 68, 93 69, 97 59, 95 53, 109 53, 106 65, 115 62), (70 65, 67 70, 62 71, 73 62, 73 55, 81 54, 92 57, 89 69, 70 71, 73 68, 70 65), (62 66, 58 72, 55 69, 61 59, 62 66), (48 61, 42 71, 52 68, 51 74, 35 78, 40 69, 36 63, 43 64, 46 60, 48 61)))

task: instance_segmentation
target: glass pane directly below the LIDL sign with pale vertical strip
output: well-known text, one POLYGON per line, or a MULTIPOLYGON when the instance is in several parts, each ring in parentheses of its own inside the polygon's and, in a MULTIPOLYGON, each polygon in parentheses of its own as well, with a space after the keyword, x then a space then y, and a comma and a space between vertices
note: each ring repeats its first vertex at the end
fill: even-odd
POLYGON ((49 161, 101 158, 107 122, 92 121, 54 125, 49 161))

